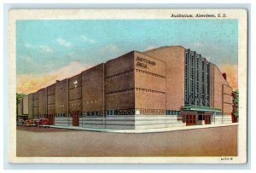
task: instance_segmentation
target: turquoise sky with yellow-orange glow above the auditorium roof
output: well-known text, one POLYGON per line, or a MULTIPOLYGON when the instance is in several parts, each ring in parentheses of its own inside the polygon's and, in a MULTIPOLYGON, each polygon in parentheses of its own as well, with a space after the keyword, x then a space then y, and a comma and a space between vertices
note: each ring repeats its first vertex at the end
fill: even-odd
POLYGON ((18 20, 16 26, 18 93, 35 92, 132 50, 169 45, 205 56, 237 89, 237 20, 18 20))

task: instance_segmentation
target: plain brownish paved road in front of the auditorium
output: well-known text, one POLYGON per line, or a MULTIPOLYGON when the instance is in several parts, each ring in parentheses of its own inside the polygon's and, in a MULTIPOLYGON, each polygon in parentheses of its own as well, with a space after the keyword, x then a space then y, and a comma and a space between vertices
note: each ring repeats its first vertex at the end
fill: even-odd
POLYGON ((118 134, 17 128, 17 156, 236 156, 237 126, 118 134))

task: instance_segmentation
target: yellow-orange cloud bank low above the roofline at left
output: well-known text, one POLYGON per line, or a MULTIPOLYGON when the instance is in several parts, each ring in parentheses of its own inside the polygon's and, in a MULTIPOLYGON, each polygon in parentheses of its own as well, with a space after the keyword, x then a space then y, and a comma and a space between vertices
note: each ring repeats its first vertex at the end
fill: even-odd
POLYGON ((29 94, 38 91, 50 84, 55 84, 56 80, 73 77, 80 72, 90 68, 91 65, 81 64, 78 61, 72 61, 67 66, 63 66, 54 72, 48 72, 40 75, 21 74, 17 75, 17 92, 29 94))

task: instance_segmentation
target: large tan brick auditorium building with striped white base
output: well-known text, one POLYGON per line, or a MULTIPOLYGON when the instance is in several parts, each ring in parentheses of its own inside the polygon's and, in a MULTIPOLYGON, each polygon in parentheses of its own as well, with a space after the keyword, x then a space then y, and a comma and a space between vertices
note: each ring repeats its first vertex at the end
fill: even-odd
POLYGON ((226 78, 203 55, 182 46, 131 51, 29 94, 22 109, 52 125, 87 128, 231 123, 226 78))

